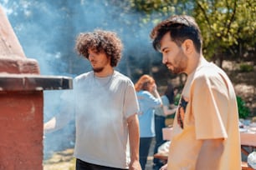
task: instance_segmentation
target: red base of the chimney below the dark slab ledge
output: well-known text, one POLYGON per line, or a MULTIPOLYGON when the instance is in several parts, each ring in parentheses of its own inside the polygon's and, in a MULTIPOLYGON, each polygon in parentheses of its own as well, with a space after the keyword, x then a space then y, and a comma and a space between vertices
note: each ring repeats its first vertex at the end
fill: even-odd
POLYGON ((43 169, 43 91, 0 93, 0 169, 43 169))

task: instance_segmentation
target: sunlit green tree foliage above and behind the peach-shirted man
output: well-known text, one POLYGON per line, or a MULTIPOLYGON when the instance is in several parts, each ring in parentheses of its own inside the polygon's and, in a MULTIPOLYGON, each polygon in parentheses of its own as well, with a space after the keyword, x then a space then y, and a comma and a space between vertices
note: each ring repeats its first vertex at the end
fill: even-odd
POLYGON ((141 23, 159 23, 173 14, 196 18, 202 30, 203 53, 208 60, 253 58, 256 43, 255 0, 130 0, 131 7, 145 13, 141 23))

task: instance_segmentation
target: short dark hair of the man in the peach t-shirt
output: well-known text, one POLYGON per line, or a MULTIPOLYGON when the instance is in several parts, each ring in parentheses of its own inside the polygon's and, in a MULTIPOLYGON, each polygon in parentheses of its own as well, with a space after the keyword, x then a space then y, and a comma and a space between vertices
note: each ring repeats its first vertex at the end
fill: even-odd
POLYGON ((187 15, 174 15, 171 18, 158 23, 151 31, 152 45, 156 51, 160 51, 161 38, 170 32, 173 42, 181 47, 182 42, 191 39, 197 52, 201 52, 202 35, 195 19, 187 15))

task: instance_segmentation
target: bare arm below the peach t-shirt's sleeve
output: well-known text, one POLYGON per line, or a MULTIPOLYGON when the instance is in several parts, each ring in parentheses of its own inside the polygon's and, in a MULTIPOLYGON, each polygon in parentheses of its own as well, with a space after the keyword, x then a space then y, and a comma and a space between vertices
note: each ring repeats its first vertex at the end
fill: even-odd
POLYGON ((202 147, 198 154, 196 169, 219 169, 223 150, 223 138, 202 140, 202 147))

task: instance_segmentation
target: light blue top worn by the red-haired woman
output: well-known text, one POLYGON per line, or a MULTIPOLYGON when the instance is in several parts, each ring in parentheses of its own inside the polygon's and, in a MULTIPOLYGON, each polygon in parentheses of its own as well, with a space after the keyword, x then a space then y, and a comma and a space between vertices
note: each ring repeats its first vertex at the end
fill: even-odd
POLYGON ((154 97, 148 91, 136 92, 140 105, 138 114, 140 122, 140 137, 155 137, 155 108, 161 106, 161 99, 154 97))

